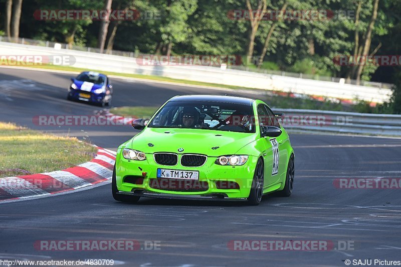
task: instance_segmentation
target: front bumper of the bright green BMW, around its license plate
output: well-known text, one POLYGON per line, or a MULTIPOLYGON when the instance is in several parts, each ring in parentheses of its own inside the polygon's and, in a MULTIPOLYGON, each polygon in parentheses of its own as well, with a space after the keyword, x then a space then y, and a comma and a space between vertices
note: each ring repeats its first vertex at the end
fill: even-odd
POLYGON ((249 156, 247 162, 242 166, 222 166, 215 163, 216 157, 208 157, 206 163, 200 167, 185 167, 178 163, 175 166, 165 166, 157 164, 153 159, 153 154, 146 154, 146 159, 142 161, 128 160, 122 157, 121 150, 116 157, 116 184, 119 193, 132 195, 177 198, 179 196, 196 197, 196 199, 225 199, 225 198, 246 198, 249 196, 252 187, 254 170, 258 158, 249 156), (164 183, 157 179, 157 168, 176 169, 176 170, 197 170, 199 171, 198 180, 166 179, 164 183), (127 182, 128 177, 136 177, 142 181, 138 184, 127 182), (166 181, 167 180, 167 181, 166 181), (178 180, 178 181, 177 181, 178 180), (170 182, 171 181, 171 182, 170 182), (183 189, 179 184, 207 184, 201 190, 183 189), (158 184, 158 188, 154 188, 158 184), (164 185, 163 185, 164 184, 164 185), (219 188, 220 184, 220 188, 219 188), (222 184, 226 188, 222 188, 222 184), (232 185, 238 186, 232 186, 232 185), (163 187, 164 186, 164 187, 163 187), (176 186, 176 187, 174 187, 176 186), (179 188, 178 188, 179 187, 179 188), (228 188, 227 188, 228 187, 228 188), (197 198, 197 196, 201 198, 197 198))

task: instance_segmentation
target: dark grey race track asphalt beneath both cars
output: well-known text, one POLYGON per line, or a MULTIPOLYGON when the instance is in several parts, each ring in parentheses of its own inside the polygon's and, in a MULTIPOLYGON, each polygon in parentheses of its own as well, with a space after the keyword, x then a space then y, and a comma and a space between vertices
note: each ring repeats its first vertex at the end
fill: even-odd
MULTIPOLYGON (((90 115, 99 106, 66 100, 71 74, 0 68, 1 121, 85 137, 115 150, 130 126, 40 126, 36 115, 90 115)), ((113 105, 160 105, 177 94, 238 94, 113 79, 113 105)), ((0 259, 114 259, 126 266, 345 266, 347 259, 401 260, 401 189, 339 189, 336 178, 400 178, 401 140, 290 134, 296 154, 294 193, 240 202, 141 199, 116 202, 110 183, 68 194, 0 204, 0 259), (39 240, 138 240, 160 249, 38 250, 39 240), (238 251, 235 240, 348 242, 329 251, 238 251)), ((1 151, 0 151, 1 154, 1 151)), ((277 243, 277 242, 276 242, 277 243)), ((143 248, 143 246, 142 246, 143 248)))

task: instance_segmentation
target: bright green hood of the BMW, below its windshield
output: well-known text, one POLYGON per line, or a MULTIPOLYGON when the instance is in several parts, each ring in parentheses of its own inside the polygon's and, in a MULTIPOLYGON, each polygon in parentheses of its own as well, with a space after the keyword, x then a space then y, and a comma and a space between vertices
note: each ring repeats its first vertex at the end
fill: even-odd
POLYGON ((128 143, 129 148, 154 152, 234 154, 255 140, 255 133, 208 129, 145 128, 128 143), (152 146, 153 145, 153 146, 152 146), (178 151, 183 148, 183 151, 178 151))

